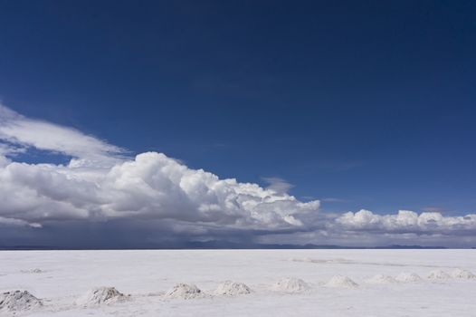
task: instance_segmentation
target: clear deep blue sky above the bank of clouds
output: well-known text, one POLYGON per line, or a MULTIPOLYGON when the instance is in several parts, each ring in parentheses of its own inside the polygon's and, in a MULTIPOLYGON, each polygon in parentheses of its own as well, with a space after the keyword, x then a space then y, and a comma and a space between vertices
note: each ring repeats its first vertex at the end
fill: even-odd
POLYGON ((328 211, 476 210, 473 1, 0 1, 28 117, 328 211))

